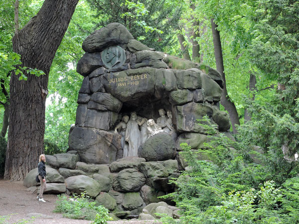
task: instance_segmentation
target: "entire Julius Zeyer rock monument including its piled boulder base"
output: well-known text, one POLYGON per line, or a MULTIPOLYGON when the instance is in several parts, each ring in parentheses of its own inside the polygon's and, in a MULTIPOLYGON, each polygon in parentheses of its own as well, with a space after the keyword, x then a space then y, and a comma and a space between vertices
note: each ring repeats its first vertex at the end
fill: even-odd
MULTIPOLYGON (((77 72, 84 79, 69 150, 46 156, 55 168, 47 167, 52 191, 86 191, 119 218, 179 217, 158 197, 174 191, 169 180, 187 166, 180 143, 204 148, 207 133, 197 119, 208 116, 219 131, 230 128, 219 111, 220 74, 154 51, 119 23, 93 32, 82 48, 77 72)), ((32 191, 35 173, 24 180, 32 191)))

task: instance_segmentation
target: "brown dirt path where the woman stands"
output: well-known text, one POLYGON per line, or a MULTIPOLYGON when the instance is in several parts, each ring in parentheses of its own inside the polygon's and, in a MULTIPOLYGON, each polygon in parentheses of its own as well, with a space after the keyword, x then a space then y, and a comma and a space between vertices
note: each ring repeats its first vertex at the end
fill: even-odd
MULTIPOLYGON (((0 180, 0 224, 14 224, 22 220, 30 220, 31 224, 90 224, 91 221, 71 220, 61 214, 53 213, 57 196, 45 194, 46 202, 39 202, 36 194, 26 190, 21 181, 10 182, 0 180), (30 219, 30 213, 39 213, 47 217, 30 219), (2 220, 1 217, 8 216, 2 220), (50 218, 51 217, 51 218, 50 218)), ((108 224, 152 224, 153 221, 115 221, 108 224)))

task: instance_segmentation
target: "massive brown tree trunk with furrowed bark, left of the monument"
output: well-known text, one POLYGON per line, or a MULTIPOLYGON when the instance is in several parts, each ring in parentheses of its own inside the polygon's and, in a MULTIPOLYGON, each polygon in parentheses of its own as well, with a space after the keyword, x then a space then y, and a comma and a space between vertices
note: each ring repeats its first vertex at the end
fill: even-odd
POLYGON ((12 39, 22 65, 45 75, 10 79, 10 112, 4 179, 22 180, 43 153, 48 74, 78 0, 45 0, 39 12, 12 39))

